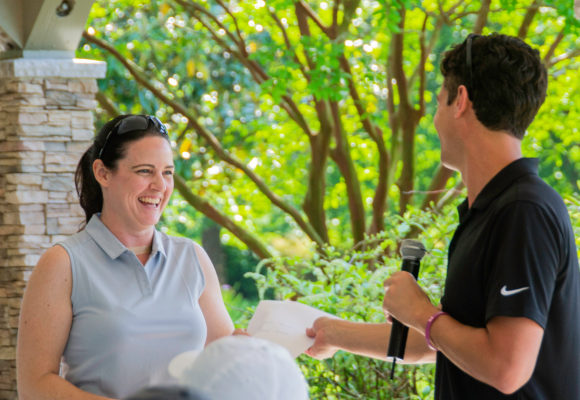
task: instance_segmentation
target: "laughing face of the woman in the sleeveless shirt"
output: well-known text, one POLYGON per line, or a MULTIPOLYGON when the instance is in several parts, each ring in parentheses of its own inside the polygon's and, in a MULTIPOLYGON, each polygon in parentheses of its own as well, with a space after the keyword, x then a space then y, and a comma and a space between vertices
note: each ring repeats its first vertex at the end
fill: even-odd
POLYGON ((103 189, 103 214, 126 227, 155 225, 173 192, 173 154, 166 139, 146 136, 127 144, 125 157, 115 171, 99 180, 103 189))

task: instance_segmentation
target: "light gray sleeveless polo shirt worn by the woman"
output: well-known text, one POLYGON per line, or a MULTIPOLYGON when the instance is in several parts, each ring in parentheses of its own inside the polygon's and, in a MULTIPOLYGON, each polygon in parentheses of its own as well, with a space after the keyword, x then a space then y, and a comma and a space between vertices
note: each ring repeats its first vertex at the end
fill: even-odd
POLYGON ((203 349, 207 336, 198 303, 205 280, 194 242, 155 231, 143 266, 94 215, 59 245, 73 277, 66 380, 113 398, 173 383, 171 359, 203 349))

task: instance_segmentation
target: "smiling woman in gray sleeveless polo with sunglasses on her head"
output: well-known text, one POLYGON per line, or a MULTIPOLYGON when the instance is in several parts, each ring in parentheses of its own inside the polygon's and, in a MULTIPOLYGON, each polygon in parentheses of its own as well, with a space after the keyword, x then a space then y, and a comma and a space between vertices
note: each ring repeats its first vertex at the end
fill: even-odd
POLYGON ((173 173, 151 116, 113 119, 82 156, 86 226, 44 253, 22 302, 21 400, 121 398, 168 383, 176 354, 232 334, 207 254, 155 229, 173 173))

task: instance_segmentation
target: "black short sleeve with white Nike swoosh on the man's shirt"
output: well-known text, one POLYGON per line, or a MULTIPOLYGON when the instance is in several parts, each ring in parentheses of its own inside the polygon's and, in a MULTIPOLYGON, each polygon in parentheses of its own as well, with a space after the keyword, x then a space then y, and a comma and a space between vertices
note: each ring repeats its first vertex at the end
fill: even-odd
POLYGON ((498 215, 486 257, 486 321, 526 317, 545 328, 560 264, 556 221, 528 202, 508 205, 498 215))

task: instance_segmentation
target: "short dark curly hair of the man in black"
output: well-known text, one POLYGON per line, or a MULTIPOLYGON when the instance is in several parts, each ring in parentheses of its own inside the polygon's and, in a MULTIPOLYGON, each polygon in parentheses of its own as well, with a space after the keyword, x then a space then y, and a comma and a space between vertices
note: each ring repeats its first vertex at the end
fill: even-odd
POLYGON ((539 52, 511 36, 470 35, 444 54, 441 73, 448 104, 464 85, 477 119, 518 139, 546 98, 548 78, 539 52))

